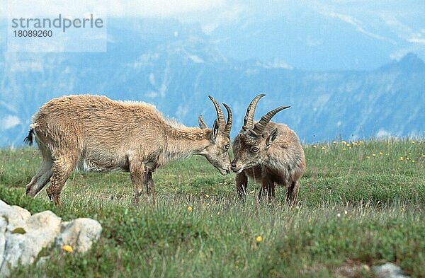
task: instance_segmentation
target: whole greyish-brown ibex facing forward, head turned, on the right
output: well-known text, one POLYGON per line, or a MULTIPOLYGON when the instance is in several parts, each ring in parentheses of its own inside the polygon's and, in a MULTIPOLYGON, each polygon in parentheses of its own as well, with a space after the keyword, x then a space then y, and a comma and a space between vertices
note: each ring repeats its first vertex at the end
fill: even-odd
POLYGON ((246 195, 248 176, 261 183, 261 195, 275 197, 275 183, 287 187, 286 199, 294 204, 298 195, 298 179, 305 172, 305 157, 297 134, 285 124, 270 122, 280 110, 271 110, 254 124, 257 95, 248 106, 244 126, 233 142, 232 170, 237 173, 236 188, 240 197, 246 195))

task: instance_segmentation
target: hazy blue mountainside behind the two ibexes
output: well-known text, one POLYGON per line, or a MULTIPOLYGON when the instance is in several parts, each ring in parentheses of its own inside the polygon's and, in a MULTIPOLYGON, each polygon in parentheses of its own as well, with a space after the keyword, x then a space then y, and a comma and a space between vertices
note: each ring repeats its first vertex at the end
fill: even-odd
POLYGON ((154 103, 191 126, 200 113, 212 124, 210 94, 232 107, 233 135, 251 98, 266 93, 256 118, 291 105, 275 120, 307 142, 424 136, 425 64, 416 54, 373 71, 303 71, 228 59, 200 26, 173 20, 111 20, 108 41, 105 53, 13 53, 0 37, 0 146, 22 144, 40 105, 79 93, 154 103))

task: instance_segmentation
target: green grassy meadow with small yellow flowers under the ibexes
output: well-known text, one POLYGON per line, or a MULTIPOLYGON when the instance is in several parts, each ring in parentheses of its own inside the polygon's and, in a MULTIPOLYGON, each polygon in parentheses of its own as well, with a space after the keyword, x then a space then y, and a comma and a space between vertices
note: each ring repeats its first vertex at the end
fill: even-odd
POLYGON ((425 277, 425 142, 348 144, 351 149, 341 142, 305 146, 307 173, 293 209, 284 188, 275 203, 258 204, 254 184, 240 202, 234 175, 220 175, 201 157, 154 173, 157 207, 131 206, 127 173, 74 173, 56 208, 45 190, 35 199, 24 195, 38 151, 0 149, 5 202, 32 213, 50 209, 64 221, 91 217, 103 226, 88 253, 47 250, 47 264, 12 276, 332 277, 347 262, 390 261, 425 277))

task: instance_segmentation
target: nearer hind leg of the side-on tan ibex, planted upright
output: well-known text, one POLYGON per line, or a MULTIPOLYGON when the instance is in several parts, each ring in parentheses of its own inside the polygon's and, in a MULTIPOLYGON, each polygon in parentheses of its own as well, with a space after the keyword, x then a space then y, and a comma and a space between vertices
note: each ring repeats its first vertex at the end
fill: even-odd
POLYGON ((77 161, 77 156, 62 156, 53 162, 52 178, 50 178, 50 186, 47 187, 46 192, 50 200, 57 207, 60 207, 60 192, 62 192, 62 187, 64 187, 69 175, 71 175, 72 170, 77 165, 77 161))

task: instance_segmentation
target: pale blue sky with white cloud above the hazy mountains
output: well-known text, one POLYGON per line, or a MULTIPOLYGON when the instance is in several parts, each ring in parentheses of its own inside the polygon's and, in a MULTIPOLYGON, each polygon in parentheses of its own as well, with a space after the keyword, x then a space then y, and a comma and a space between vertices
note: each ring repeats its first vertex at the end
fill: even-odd
POLYGON ((58 8, 84 13, 95 7, 115 18, 176 18, 199 24, 226 57, 288 68, 375 69, 408 52, 425 59, 424 1, 0 2, 1 17, 18 4, 23 14, 55 14, 58 8))

